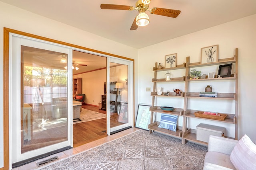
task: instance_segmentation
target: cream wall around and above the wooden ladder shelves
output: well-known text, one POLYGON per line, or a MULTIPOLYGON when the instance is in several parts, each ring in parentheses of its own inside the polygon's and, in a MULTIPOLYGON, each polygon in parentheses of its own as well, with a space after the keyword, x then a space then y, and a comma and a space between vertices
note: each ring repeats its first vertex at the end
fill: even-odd
MULTIPOLYGON (((165 55, 178 53, 178 64, 185 63, 186 57, 190 56, 190 62, 195 63, 200 62, 202 47, 218 44, 219 59, 233 57, 235 48, 238 48, 238 139, 247 134, 253 142, 256 141, 255 30, 256 15, 252 15, 139 49, 139 103, 151 105, 152 98, 149 97, 150 92, 146 92, 146 87, 151 87, 152 90, 151 80, 154 77, 152 67, 155 62, 164 63, 165 55)), ((176 84, 176 86, 180 85, 176 84)), ((206 110, 209 108, 210 106, 205 107, 206 110)), ((188 124, 190 127, 195 127, 198 122, 188 124)), ((229 129, 229 125, 227 126, 229 129)))

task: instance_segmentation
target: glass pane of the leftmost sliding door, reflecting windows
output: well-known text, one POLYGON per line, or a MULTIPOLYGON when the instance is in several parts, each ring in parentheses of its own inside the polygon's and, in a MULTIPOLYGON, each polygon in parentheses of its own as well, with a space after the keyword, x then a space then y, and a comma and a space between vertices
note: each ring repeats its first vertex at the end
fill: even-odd
POLYGON ((21 153, 66 141, 67 54, 21 46, 21 153))

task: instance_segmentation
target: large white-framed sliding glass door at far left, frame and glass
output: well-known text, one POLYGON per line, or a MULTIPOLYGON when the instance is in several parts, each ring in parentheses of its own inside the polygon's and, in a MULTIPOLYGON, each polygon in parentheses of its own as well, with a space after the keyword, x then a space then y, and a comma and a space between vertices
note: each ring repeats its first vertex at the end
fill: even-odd
POLYGON ((24 37, 12 36, 11 42, 10 141, 15 167, 72 146, 72 53, 24 37))

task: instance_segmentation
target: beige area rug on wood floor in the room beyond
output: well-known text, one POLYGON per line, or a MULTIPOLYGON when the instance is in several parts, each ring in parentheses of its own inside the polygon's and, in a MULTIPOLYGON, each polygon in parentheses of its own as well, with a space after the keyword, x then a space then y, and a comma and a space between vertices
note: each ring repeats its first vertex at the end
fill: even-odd
POLYGON ((82 121, 74 120, 73 124, 82 123, 85 121, 92 121, 92 120, 96 120, 96 119, 102 119, 102 118, 106 118, 106 117, 107 117, 106 114, 82 108, 82 111, 80 111, 80 119, 82 121))

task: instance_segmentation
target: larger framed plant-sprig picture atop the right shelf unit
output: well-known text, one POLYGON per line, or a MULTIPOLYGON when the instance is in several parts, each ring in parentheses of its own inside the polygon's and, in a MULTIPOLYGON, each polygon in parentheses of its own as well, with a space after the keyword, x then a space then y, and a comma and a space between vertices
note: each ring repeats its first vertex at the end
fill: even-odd
POLYGON ((201 64, 218 61, 219 45, 201 48, 201 64))

